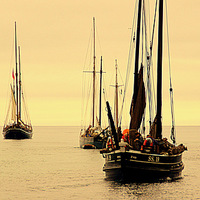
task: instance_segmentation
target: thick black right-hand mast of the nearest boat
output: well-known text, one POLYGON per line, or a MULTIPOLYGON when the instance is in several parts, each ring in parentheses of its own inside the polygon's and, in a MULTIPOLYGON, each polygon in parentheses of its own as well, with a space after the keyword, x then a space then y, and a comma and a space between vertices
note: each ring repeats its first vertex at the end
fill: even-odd
POLYGON ((159 4, 159 26, 158 26, 158 61, 157 61, 157 135, 162 138, 162 42, 163 42, 163 0, 159 4))

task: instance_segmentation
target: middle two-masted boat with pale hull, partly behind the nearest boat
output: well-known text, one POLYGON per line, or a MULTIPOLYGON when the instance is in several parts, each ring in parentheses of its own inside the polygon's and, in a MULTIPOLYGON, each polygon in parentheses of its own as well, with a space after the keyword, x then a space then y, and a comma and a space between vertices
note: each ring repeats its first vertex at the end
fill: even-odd
MULTIPOLYGON (((102 57, 100 64, 100 87, 99 87, 99 119, 95 115, 96 106, 96 47, 95 47, 95 18, 93 18, 93 84, 92 84, 92 123, 81 129, 80 147, 84 149, 102 149, 106 146, 108 127, 101 127, 101 96, 102 96, 102 57), (95 120, 97 119, 97 120, 95 120), (95 123, 96 122, 96 123, 95 123)), ((90 71, 91 72, 91 71, 90 71)))

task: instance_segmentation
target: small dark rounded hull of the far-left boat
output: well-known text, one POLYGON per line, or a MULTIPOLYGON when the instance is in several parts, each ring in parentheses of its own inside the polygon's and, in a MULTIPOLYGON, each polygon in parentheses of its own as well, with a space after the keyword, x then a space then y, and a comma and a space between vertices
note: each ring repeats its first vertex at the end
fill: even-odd
POLYGON ((33 133, 22 128, 9 128, 3 132, 5 139, 31 139, 33 133))

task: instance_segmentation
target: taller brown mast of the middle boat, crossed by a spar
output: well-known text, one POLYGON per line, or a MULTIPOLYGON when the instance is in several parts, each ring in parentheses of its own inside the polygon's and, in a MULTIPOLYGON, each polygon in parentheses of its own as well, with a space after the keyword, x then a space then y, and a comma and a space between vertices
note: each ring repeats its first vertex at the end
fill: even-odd
POLYGON ((93 111, 92 111, 92 126, 94 127, 94 118, 95 118, 95 61, 96 61, 96 55, 95 55, 95 18, 93 17, 93 31, 94 31, 94 58, 93 58, 93 111))

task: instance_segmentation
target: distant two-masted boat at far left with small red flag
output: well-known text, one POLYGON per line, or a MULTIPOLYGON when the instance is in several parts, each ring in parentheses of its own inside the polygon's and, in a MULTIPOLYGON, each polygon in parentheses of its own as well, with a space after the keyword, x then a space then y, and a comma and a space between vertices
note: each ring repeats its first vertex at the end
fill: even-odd
POLYGON ((17 48, 17 30, 15 22, 15 73, 12 72, 13 83, 11 85, 11 101, 7 112, 7 117, 3 127, 3 136, 5 139, 30 139, 32 138, 32 126, 25 108, 24 94, 21 81, 21 62, 20 47, 17 48), (18 64, 19 63, 19 64, 18 64), (23 105, 23 108, 22 108, 23 105), (22 111, 24 118, 22 119, 22 111))

